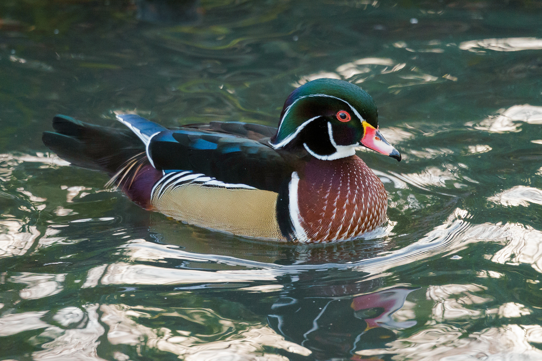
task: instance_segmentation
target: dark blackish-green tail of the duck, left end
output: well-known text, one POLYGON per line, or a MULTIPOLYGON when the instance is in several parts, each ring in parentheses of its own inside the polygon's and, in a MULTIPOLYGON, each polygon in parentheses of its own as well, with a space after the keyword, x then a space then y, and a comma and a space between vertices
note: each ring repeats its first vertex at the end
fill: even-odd
POLYGON ((128 129, 95 126, 65 115, 53 118, 53 128, 56 133, 43 132, 44 145, 73 165, 110 176, 127 160, 145 152, 143 142, 128 129))

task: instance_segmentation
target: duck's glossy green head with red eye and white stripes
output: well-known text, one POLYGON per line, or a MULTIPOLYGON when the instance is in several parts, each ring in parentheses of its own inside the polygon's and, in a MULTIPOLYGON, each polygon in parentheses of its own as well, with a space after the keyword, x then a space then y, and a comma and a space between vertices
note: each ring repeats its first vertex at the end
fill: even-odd
POLYGON ((292 91, 270 140, 275 149, 305 148, 321 160, 356 154, 364 146, 401 161, 401 154, 378 131, 378 110, 358 86, 321 78, 292 91))

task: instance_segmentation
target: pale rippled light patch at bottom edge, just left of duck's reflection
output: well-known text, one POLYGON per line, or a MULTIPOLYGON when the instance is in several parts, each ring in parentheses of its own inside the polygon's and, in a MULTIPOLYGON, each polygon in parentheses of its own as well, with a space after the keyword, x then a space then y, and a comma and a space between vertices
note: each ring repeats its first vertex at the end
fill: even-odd
MULTIPOLYGON (((311 353, 305 347, 286 341, 268 326, 254 321, 234 323, 211 310, 176 307, 173 312, 152 314, 152 317, 178 317, 191 323, 185 330, 179 331, 167 327, 151 329, 141 324, 137 318, 151 317, 151 314, 149 311, 141 312, 137 306, 102 305, 100 310, 104 313, 101 320, 109 325, 107 337, 112 344, 138 345, 141 339, 146 339, 148 347, 183 355, 186 360, 235 360, 236 356, 252 360, 252 354, 261 350, 262 346, 305 356, 311 353), (208 342, 205 343, 205 340, 208 342)), ((273 355, 265 356, 270 360, 281 359, 273 355)))

